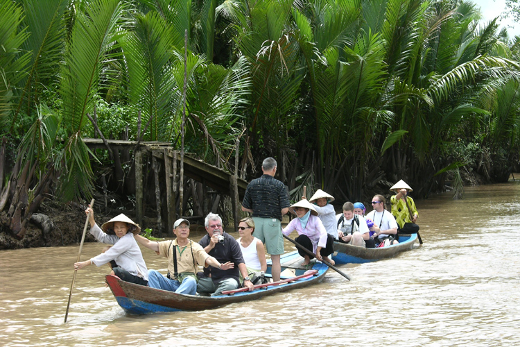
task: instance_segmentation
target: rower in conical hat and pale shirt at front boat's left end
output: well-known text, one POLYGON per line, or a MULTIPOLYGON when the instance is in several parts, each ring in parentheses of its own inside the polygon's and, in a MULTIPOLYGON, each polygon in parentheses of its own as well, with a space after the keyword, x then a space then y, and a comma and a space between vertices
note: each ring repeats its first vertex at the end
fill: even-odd
POLYGON ((115 275, 126 282, 148 285, 148 269, 141 248, 134 239, 134 235, 138 235, 141 228, 124 214, 119 214, 119 216, 110 219, 99 228, 94 220, 94 210, 89 207, 85 210, 85 213, 89 214, 89 212, 90 233, 99 242, 113 246, 92 259, 85 262, 76 262, 75 268, 83 269, 85 266, 92 264, 101 266, 114 261, 111 275, 115 275))

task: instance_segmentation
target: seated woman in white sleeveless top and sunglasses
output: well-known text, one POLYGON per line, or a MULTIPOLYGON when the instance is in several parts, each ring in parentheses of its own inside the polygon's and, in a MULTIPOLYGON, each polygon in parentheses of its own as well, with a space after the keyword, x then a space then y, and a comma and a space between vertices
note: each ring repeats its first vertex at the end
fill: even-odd
POLYGON ((251 218, 241 219, 239 223, 240 238, 236 241, 239 242, 248 273, 266 272, 266 248, 263 247, 263 243, 259 239, 252 235, 253 232, 254 221, 251 218))

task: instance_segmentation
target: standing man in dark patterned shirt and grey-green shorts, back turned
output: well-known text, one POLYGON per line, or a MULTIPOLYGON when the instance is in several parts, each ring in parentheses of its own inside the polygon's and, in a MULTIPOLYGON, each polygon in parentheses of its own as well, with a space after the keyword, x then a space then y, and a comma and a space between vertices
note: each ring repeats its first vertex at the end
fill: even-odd
POLYGON ((280 255, 284 254, 281 217, 291 206, 284 183, 275 179, 276 169, 274 158, 264 159, 263 175, 249 183, 242 201, 242 210, 253 214, 254 236, 266 244, 267 253, 271 255, 271 274, 275 282, 280 280, 280 255))

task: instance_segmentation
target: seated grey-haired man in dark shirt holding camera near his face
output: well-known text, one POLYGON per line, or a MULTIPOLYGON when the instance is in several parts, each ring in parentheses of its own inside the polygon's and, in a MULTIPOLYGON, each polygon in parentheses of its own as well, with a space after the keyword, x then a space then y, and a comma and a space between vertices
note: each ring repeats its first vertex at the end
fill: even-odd
POLYGON ((204 251, 215 257, 220 263, 232 264, 227 268, 205 268, 204 275, 199 276, 197 291, 200 294, 216 296, 226 290, 239 287, 239 273, 244 278, 244 287, 253 290, 254 285, 248 277, 248 268, 245 266, 239 242, 227 232, 223 231, 222 219, 218 214, 209 212, 204 223, 207 235, 198 242, 204 251), (236 267, 235 267, 236 265, 236 267))

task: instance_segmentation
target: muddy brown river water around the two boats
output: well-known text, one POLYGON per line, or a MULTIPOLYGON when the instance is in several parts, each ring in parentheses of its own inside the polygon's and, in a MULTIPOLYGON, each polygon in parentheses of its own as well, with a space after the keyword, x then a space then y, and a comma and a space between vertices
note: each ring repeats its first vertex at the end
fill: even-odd
MULTIPOLYGON (((520 183, 417 208, 424 244, 342 266, 350 282, 329 271, 314 287, 203 312, 125 314, 103 285, 109 269, 88 266, 64 323, 79 247, 0 251, 0 346, 520 346, 520 183)), ((82 260, 100 250, 85 244, 82 260)))

